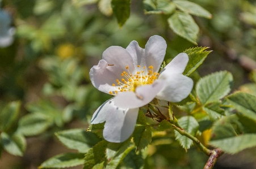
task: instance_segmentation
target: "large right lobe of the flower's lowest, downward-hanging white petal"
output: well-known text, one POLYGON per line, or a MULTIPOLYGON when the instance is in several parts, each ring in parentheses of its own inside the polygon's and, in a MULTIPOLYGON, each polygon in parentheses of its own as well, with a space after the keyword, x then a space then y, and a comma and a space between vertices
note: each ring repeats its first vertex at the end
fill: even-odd
POLYGON ((139 108, 120 109, 116 107, 106 117, 103 137, 110 142, 123 142, 129 138, 135 128, 139 108))

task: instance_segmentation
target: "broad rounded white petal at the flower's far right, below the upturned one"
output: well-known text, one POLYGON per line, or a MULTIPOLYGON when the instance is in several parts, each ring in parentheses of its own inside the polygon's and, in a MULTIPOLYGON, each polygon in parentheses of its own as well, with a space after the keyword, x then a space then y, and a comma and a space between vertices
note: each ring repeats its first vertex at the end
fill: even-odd
MULTIPOLYGON (((163 74, 167 75, 167 73, 163 74)), ((169 102, 180 102, 190 94, 193 88, 193 80, 182 74, 169 74, 168 77, 162 76, 166 80, 165 88, 156 96, 169 102)))

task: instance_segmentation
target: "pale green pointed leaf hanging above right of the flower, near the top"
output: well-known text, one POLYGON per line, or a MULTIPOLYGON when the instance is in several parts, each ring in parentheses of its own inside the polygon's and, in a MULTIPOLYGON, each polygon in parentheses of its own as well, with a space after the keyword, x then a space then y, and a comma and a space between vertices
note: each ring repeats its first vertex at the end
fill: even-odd
POLYGON ((197 45, 199 27, 190 14, 177 11, 167 21, 174 33, 197 45))

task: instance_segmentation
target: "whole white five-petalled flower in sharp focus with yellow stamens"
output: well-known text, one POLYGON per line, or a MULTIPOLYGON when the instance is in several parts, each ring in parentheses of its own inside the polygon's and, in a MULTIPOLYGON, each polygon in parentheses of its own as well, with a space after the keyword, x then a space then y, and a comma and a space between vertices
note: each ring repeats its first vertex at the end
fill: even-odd
POLYGON ((90 70, 95 88, 115 97, 101 105, 91 124, 103 123, 103 137, 110 142, 123 142, 132 135, 139 107, 154 98, 179 102, 190 94, 193 81, 182 73, 188 55, 180 53, 158 73, 165 57, 166 42, 152 36, 142 49, 132 41, 126 49, 108 47, 102 60, 90 70))

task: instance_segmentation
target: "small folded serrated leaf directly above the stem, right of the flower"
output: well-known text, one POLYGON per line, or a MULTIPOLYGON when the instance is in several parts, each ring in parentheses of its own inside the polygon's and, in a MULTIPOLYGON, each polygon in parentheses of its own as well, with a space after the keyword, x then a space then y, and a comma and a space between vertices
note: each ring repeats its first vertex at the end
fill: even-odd
MULTIPOLYGON (((196 135, 199 124, 193 116, 183 116, 182 118, 178 119, 178 123, 186 132, 190 133, 192 136, 196 135)), ((190 138, 182 136, 177 131, 175 131, 175 137, 184 149, 189 149, 193 144, 193 141, 190 140, 190 138)))

